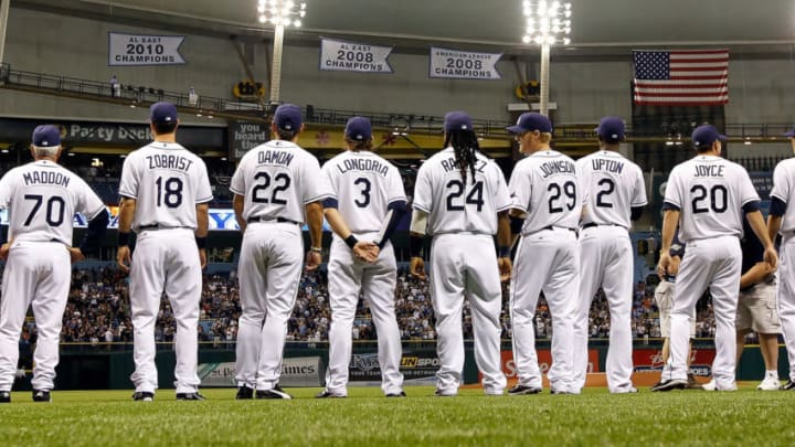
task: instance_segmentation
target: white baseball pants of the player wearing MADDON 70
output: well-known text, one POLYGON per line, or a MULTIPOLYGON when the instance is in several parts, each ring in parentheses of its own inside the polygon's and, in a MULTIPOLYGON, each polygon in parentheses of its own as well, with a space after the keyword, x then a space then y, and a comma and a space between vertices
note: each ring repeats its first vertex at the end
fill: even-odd
POLYGON ((13 243, 6 263, 0 300, 0 391, 11 391, 25 313, 33 307, 39 341, 33 352, 34 390, 51 391, 71 283, 66 248, 54 242, 13 243))

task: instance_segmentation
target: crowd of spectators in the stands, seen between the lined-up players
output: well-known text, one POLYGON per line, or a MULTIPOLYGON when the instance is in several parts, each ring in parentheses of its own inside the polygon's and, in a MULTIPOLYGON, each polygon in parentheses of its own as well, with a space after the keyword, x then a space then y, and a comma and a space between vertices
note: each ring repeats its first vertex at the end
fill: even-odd
MULTIPOLYGON (((72 290, 63 317, 63 342, 131 342, 128 279, 116 269, 74 270, 72 290)), ((287 341, 320 342, 328 339, 331 310, 328 300, 326 273, 318 270, 301 277, 298 297, 288 320, 287 341)), ((395 311, 403 340, 435 340, 434 313, 428 285, 402 270, 395 290, 395 311)), ((231 343, 237 337, 241 315, 235 272, 230 275, 205 275, 200 308, 199 338, 208 343, 231 343)), ((543 297, 536 312, 536 336, 543 340, 552 336, 552 321, 543 297)), ((25 326, 23 340, 35 338, 35 326, 25 326)), ((511 337, 508 286, 504 287, 502 338, 511 337)), ((697 338, 714 337, 714 318, 709 299, 698 307, 697 338)), ((465 305, 463 328, 466 339, 473 338, 471 317, 465 305)), ((592 338, 610 336, 610 311, 603 294, 594 297, 590 316, 592 338)), ((654 287, 638 283, 633 302, 633 333, 638 339, 659 338, 659 317, 654 300, 654 287)), ((158 342, 173 341, 176 321, 168 299, 163 297, 156 327, 158 342)), ((374 340, 375 328, 370 308, 360 300, 353 324, 354 340, 374 340)))

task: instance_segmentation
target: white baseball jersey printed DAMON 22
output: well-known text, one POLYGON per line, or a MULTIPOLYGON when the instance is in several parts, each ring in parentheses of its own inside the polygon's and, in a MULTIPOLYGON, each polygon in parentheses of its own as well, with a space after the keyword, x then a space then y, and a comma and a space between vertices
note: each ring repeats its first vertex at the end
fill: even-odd
POLYGON ((304 223, 304 206, 330 195, 315 156, 298 145, 272 140, 250 150, 232 175, 230 190, 245 196, 243 219, 304 223))

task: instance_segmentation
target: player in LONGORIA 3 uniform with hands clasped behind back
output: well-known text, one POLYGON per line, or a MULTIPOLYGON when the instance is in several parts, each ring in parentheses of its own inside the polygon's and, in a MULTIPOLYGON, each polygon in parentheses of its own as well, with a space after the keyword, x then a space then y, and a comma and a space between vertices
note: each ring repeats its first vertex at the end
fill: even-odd
POLYGON ((324 206, 335 238, 328 264, 329 365, 326 390, 317 397, 348 395, 351 330, 360 292, 370 305, 378 333, 381 389, 386 397, 402 397, 402 349, 394 310, 398 266, 390 237, 405 214, 403 181, 398 168, 371 152, 370 120, 349 119, 344 138, 348 150, 322 167, 333 191, 324 206))

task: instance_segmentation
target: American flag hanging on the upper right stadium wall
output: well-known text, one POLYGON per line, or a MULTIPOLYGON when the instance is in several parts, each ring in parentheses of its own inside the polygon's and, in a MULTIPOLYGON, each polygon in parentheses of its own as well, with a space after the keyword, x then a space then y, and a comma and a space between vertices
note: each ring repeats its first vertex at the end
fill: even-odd
POLYGON ((635 51, 637 105, 729 103, 729 50, 635 51))

